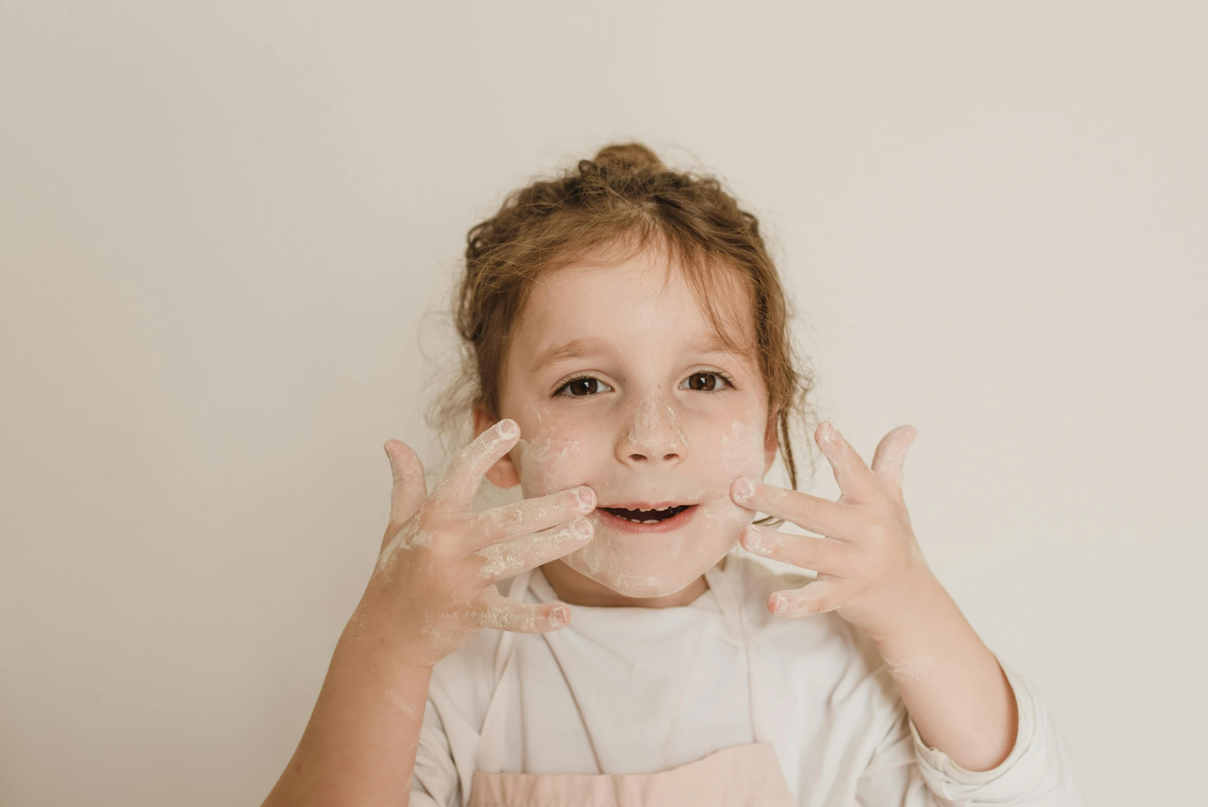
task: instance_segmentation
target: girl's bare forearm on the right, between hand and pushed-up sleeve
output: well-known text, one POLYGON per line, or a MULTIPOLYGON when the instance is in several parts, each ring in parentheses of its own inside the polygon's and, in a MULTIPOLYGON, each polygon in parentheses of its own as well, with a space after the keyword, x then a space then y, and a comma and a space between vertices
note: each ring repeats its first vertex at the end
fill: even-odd
POLYGON ((969 771, 988 771, 1015 747, 1015 692, 989 648, 936 582, 917 602, 911 628, 881 638, 919 736, 969 771))

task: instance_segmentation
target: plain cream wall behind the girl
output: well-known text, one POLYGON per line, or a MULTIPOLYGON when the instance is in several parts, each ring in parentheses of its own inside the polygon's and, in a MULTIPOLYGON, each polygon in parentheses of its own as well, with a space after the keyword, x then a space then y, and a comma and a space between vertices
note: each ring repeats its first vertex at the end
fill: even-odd
POLYGON ((263 799, 382 442, 437 457, 465 231, 621 139, 762 217, 820 416, 918 426, 923 548, 1088 803, 1198 801, 1201 8, 4 0, 0 803, 263 799))

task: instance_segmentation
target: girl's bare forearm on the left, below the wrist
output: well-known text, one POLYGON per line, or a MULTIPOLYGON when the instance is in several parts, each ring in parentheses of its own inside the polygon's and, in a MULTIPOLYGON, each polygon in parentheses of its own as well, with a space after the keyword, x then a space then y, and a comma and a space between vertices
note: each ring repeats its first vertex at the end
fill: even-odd
POLYGON ((431 668, 408 664, 366 612, 344 628, 302 741, 266 807, 406 805, 431 668))

